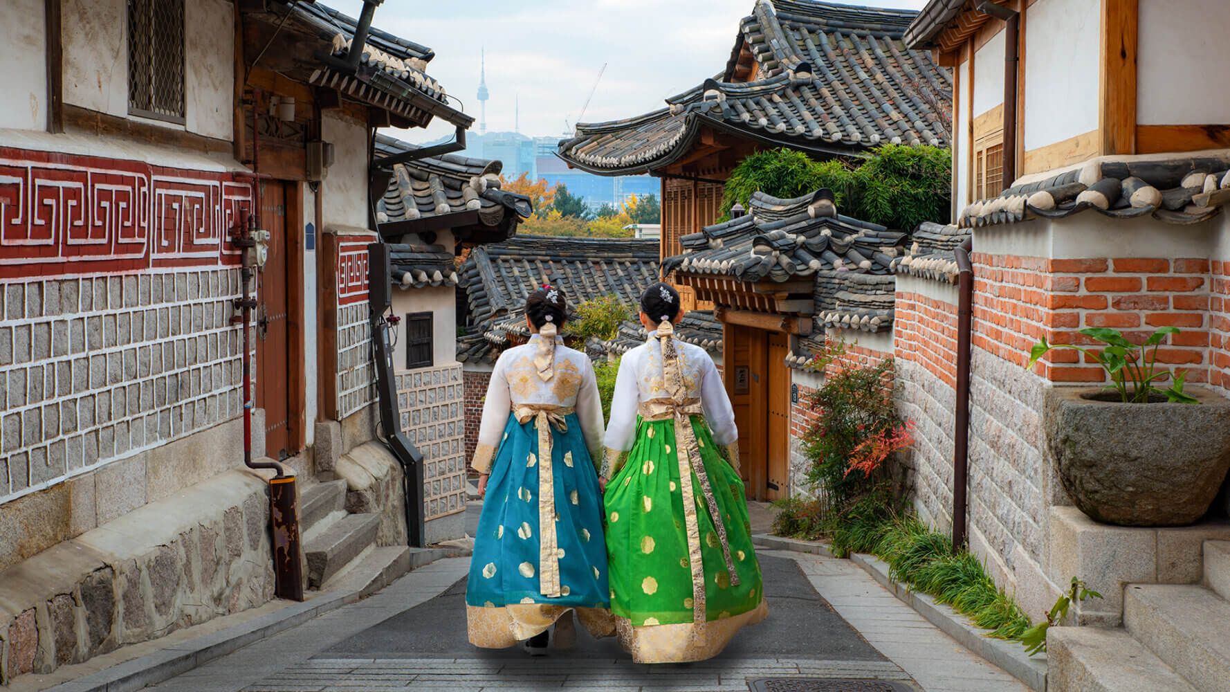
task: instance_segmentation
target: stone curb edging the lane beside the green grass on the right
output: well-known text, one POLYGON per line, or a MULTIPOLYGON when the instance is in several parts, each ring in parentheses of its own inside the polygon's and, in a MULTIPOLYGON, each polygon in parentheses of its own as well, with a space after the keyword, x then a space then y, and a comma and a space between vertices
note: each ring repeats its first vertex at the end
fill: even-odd
POLYGON ((876 581, 892 591, 920 616, 925 617, 927 622, 959 642, 961 645, 1001 667, 1004 672, 1020 680, 1026 687, 1037 692, 1046 691, 1046 654, 1030 656, 1025 653, 1025 648, 1020 643, 986 637, 985 629, 970 624, 966 616, 943 603, 937 603, 932 596, 911 591, 904 584, 891 580, 888 577, 888 563, 879 558, 855 553, 850 555, 850 560, 861 566, 876 581))

